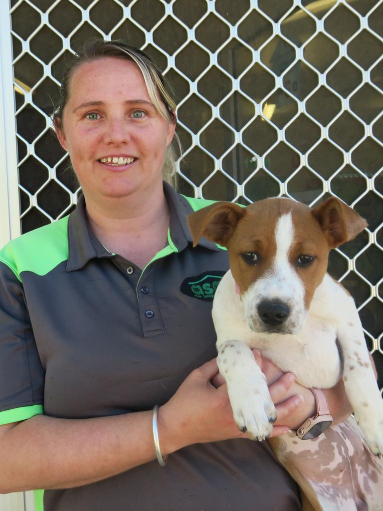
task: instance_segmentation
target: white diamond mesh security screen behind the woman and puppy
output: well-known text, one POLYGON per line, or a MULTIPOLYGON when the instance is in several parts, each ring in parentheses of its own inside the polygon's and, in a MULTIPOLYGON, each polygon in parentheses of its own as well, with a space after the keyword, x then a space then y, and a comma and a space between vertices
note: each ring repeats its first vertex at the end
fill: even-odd
POLYGON ((78 185, 50 133, 68 54, 93 36, 149 53, 178 100, 180 189, 248 204, 340 197, 369 228, 333 251, 383 385, 383 2, 11 0, 22 230, 78 185))

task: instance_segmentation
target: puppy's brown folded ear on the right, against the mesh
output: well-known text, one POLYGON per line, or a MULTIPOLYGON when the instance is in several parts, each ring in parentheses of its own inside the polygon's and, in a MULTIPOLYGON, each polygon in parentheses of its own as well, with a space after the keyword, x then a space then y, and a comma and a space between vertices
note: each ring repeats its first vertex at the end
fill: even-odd
POLYGON ((368 225, 356 211, 335 197, 322 202, 312 214, 320 223, 330 248, 352 240, 368 225))

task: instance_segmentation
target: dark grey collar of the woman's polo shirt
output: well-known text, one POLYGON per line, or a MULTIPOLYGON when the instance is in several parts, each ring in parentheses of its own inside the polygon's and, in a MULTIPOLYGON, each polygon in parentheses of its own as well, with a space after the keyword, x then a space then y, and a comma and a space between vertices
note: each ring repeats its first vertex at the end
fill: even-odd
MULTIPOLYGON (((187 215, 193 213, 193 209, 187 200, 178 194, 170 184, 164 182, 163 190, 170 210, 170 237, 177 250, 181 251, 188 243, 193 243, 186 222, 187 215)), ((75 211, 69 215, 68 245, 69 254, 66 271, 79 270, 94 258, 114 257, 114 254, 108 252, 94 235, 86 215, 83 195, 79 197, 75 211)), ((219 251, 217 245, 206 238, 201 238, 198 245, 219 251)))

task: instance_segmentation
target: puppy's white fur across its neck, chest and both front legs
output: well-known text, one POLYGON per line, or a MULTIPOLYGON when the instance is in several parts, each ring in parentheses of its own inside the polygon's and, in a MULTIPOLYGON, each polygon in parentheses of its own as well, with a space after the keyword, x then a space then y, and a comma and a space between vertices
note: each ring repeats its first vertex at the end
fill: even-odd
MULTIPOLYGON (((263 289, 268 292, 267 287, 263 289)), ((270 421, 275 413, 251 348, 260 349, 262 355, 283 371, 292 371, 302 385, 329 388, 337 383, 341 372, 338 337, 344 359, 345 388, 356 420, 371 451, 383 453, 383 402, 360 319, 352 298, 343 287, 325 275, 316 289, 301 331, 295 334, 254 332, 247 321, 248 305, 244 307, 244 301, 237 295, 234 279, 228 271, 217 288, 212 316, 218 338, 218 365, 227 380, 238 427, 246 427, 250 437, 265 438, 271 432, 270 421), (262 406, 259 396, 265 399, 262 406)))

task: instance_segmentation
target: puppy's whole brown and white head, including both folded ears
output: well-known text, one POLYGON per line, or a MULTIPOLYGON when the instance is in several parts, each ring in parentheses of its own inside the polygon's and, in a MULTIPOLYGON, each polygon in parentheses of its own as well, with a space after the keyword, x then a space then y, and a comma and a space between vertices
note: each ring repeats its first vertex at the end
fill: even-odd
POLYGON ((280 198, 246 208, 218 202, 190 214, 187 222, 194 246, 205 236, 227 247, 250 328, 285 334, 302 328, 330 249, 367 226, 334 197, 313 210, 280 198))

